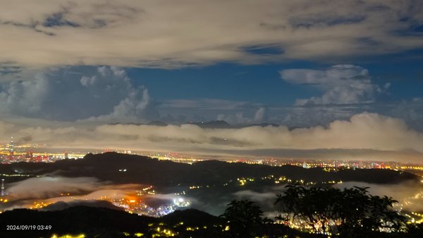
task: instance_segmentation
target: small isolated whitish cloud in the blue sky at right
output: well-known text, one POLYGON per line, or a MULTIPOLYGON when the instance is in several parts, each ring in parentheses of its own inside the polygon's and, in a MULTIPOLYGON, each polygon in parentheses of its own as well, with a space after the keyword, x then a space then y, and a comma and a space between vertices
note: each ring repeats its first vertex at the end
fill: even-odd
POLYGON ((321 97, 300 99, 295 105, 357 104, 374 102, 376 95, 389 88, 372 83, 369 71, 349 64, 331 66, 326 70, 286 69, 280 72, 289 83, 314 85, 324 91, 321 97))

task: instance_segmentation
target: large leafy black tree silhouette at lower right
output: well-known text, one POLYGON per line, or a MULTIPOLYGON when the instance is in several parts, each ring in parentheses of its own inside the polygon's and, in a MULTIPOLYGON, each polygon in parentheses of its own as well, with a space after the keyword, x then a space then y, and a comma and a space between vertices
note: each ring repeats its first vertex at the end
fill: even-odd
POLYGON ((368 194, 368 188, 307 187, 288 184, 278 194, 278 219, 286 225, 310 228, 322 237, 367 237, 397 232, 405 218, 392 210, 397 201, 368 194))

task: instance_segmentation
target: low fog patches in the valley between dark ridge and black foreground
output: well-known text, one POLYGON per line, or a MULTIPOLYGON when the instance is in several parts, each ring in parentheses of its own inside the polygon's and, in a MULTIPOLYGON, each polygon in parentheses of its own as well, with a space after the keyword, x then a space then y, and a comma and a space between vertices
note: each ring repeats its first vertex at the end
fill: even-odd
MULTIPOLYGON (((91 201, 102 198, 120 199, 135 194, 147 185, 144 184, 111 184, 101 182, 93 177, 36 177, 25 179, 21 182, 6 184, 8 203, 0 203, 0 209, 9 210, 13 208, 28 208, 35 201, 56 203, 64 201, 72 203, 75 201, 91 201)), ((368 184, 364 182, 343 182, 336 184, 339 189, 352 186, 369 187, 369 192, 377 196, 391 196, 403 209, 410 211, 423 211, 423 184, 402 183, 402 184, 368 184)), ((266 186, 239 190, 234 189, 228 192, 219 187, 210 187, 197 191, 187 192, 183 197, 191 202, 192 208, 204 210, 213 215, 220 215, 233 199, 248 199, 255 201, 266 211, 270 217, 274 216, 274 202, 276 194, 284 191, 284 185, 266 186)), ((175 194, 144 195, 142 199, 149 204, 160 204, 163 201, 171 201, 175 194)))

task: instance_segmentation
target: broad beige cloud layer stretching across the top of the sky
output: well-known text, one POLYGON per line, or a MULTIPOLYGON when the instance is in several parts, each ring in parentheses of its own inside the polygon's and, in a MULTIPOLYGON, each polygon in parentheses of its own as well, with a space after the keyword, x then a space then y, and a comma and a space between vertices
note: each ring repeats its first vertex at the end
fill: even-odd
POLYGON ((412 30, 423 22, 421 7, 412 0, 6 1, 0 61, 175 68, 386 54, 422 47, 412 30), (280 53, 248 50, 266 47, 280 53))

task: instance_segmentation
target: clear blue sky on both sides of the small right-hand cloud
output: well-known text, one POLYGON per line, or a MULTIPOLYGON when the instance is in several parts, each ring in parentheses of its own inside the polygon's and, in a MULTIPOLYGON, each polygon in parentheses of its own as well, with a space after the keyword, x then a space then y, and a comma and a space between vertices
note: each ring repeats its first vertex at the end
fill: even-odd
MULTIPOLYGON (((360 64, 372 73, 375 83, 392 83, 384 100, 410 100, 423 95, 423 65, 407 59, 415 52, 370 59, 360 64), (381 61, 384 61, 381 64, 381 61)), ((357 59, 357 61, 360 61, 357 59)), ((349 62, 354 64, 353 61, 349 62)), ((321 95, 321 90, 309 85, 293 85, 281 80, 283 69, 324 69, 331 64, 293 61, 286 64, 240 65, 231 63, 185 69, 129 69, 130 78, 147 86, 157 100, 175 98, 221 98, 264 104, 292 105, 298 97, 321 95), (168 87, 163 87, 163 85, 168 87)))

